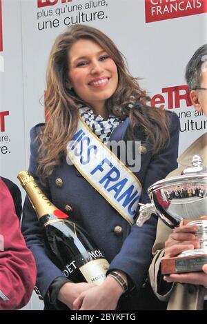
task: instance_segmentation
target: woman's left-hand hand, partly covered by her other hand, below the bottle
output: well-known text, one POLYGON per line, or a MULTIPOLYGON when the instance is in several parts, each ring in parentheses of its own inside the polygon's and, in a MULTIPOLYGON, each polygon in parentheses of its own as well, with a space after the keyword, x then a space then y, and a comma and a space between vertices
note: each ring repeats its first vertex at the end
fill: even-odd
POLYGON ((86 290, 92 289, 95 285, 91 283, 65 283, 59 290, 57 298, 66 304, 70 310, 73 309, 75 299, 86 290))

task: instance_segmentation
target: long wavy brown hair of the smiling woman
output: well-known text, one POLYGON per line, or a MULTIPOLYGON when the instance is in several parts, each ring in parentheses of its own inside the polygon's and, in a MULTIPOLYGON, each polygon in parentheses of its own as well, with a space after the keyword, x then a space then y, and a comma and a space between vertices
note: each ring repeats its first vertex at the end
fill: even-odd
POLYGON ((68 79, 68 52, 79 39, 90 39, 99 44, 117 65, 118 85, 115 93, 106 101, 108 112, 121 119, 129 117, 132 137, 137 128, 143 128, 152 143, 154 153, 159 152, 168 140, 166 112, 147 104, 150 98, 141 90, 137 79, 128 72, 124 55, 115 43, 96 28, 86 25, 71 26, 55 40, 48 62, 45 95, 48 121, 39 135, 41 145, 38 173, 42 180, 61 163, 66 145, 77 129, 78 104, 86 105, 70 90, 68 79))

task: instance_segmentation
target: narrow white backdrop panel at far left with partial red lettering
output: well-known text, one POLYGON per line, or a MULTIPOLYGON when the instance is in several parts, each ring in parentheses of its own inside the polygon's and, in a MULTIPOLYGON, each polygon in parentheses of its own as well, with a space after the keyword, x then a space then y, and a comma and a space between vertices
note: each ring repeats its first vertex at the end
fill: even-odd
POLYGON ((0 166, 1 175, 17 183, 26 167, 21 3, 0 1, 0 7, 0 166))

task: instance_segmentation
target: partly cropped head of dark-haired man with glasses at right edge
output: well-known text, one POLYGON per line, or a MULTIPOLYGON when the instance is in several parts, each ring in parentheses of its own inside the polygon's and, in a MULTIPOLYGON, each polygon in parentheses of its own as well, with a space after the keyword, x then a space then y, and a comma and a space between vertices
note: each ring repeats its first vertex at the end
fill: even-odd
POLYGON ((198 48, 188 62, 186 82, 194 108, 207 117, 207 44, 198 48))

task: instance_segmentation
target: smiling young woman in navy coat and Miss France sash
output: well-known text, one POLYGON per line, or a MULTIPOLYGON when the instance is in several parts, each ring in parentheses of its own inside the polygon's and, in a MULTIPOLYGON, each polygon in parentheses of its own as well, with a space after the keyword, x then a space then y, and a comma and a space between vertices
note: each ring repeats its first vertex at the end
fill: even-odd
POLYGON ((88 232, 110 267, 99 286, 66 279, 46 256, 37 216, 26 199, 23 234, 37 262, 37 286, 46 309, 144 307, 141 287, 152 258, 157 219, 151 217, 140 228, 133 223, 139 214, 138 201, 149 201, 147 188, 177 167, 179 137, 177 115, 151 108, 148 101, 116 45, 103 32, 76 25, 57 37, 48 63, 47 121, 31 130, 29 171, 46 196, 88 232), (83 145, 77 156, 85 156, 71 165, 66 159, 73 154, 68 143, 77 139, 81 128, 87 132, 85 139, 95 145, 90 150, 88 146, 88 155, 83 145), (106 144, 112 140, 141 141, 131 153, 141 159, 140 170, 135 168, 132 174, 129 163, 125 168, 118 160, 115 166, 103 159, 88 181, 92 155, 103 143, 105 156, 106 144), (121 178, 124 172, 128 175, 121 178), (105 175, 96 188, 100 174, 105 175), (128 181, 132 181, 129 187, 128 181))

